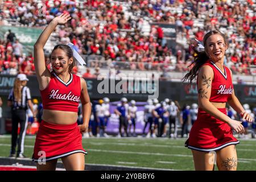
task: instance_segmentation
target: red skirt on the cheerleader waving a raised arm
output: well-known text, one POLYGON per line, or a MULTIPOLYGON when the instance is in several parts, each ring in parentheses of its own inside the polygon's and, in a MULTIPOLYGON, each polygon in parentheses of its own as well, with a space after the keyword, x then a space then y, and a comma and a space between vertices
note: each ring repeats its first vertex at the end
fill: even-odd
POLYGON ((77 123, 57 125, 42 121, 36 135, 32 161, 49 161, 75 153, 87 152, 82 148, 82 134, 77 123))

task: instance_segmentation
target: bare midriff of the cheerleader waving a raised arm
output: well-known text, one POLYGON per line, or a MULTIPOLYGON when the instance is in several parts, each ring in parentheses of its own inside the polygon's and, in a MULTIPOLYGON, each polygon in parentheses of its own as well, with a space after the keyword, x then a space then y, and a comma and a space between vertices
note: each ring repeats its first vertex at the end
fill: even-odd
POLYGON ((77 122, 77 113, 60 110, 43 110, 43 121, 57 125, 71 125, 77 122))

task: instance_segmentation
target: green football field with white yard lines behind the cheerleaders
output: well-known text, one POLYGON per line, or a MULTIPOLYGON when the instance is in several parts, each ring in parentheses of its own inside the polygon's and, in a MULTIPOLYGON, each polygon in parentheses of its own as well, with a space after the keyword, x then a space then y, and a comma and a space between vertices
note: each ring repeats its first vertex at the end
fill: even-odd
MULTIPOLYGON (((0 137, 0 156, 9 156, 10 140, 10 135, 0 137)), ((24 155, 32 156, 34 142, 35 137, 26 137, 24 155)), ((185 139, 168 138, 82 139, 88 151, 86 164, 193 170, 192 154, 184 142, 185 139)), ((237 154, 238 170, 256 170, 256 140, 241 139, 237 154)))

